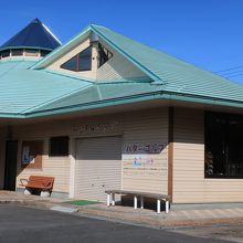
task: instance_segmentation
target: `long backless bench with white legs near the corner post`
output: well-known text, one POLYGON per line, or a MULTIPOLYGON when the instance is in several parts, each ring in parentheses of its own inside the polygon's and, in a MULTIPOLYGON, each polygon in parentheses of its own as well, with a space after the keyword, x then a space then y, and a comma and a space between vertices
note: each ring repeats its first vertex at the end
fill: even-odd
POLYGON ((158 194, 158 193, 149 193, 149 192, 140 192, 140 191, 126 191, 126 190, 107 190, 107 207, 115 205, 115 194, 120 196, 133 196, 134 197, 134 208, 138 207, 138 198, 140 198, 140 208, 144 209, 144 198, 151 198, 157 200, 157 213, 160 213, 161 209, 161 200, 166 201, 166 213, 169 213, 170 210, 170 196, 158 194))

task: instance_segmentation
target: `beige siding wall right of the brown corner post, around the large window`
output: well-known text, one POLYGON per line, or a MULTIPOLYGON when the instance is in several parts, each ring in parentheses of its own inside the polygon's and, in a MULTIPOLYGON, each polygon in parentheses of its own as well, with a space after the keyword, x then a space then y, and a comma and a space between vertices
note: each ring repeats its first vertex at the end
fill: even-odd
POLYGON ((173 202, 242 202, 243 180, 204 179, 203 110, 176 108, 173 202))

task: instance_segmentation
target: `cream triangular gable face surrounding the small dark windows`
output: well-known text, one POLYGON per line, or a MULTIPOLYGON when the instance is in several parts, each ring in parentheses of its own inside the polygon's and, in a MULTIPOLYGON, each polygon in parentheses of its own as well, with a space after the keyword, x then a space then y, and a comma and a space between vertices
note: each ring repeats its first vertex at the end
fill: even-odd
POLYGON ((76 42, 75 45, 70 46, 64 53, 57 55, 54 61, 44 65, 44 68, 94 81, 148 77, 104 40, 98 39, 98 41, 93 42, 92 34, 93 32, 91 31, 88 34, 86 33, 85 39, 80 38, 80 42, 76 42), (77 55, 89 47, 92 49, 91 70, 68 68, 68 65, 74 65, 73 63, 77 55), (101 65, 101 47, 109 53, 109 57, 105 60, 103 65, 101 65))

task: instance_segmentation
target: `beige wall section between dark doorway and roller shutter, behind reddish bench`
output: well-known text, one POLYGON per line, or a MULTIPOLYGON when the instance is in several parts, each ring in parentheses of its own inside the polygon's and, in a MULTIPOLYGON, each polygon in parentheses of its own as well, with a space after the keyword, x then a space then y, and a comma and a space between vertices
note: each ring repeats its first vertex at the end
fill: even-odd
POLYGON ((52 176, 55 177, 54 191, 68 192, 70 180, 70 157, 49 157, 49 138, 56 135, 67 135, 62 131, 63 128, 59 124, 45 123, 28 126, 18 126, 13 128, 14 139, 18 139, 18 170, 17 187, 20 187, 21 178, 34 176, 52 176), (21 168, 21 150, 23 140, 43 140, 44 149, 42 156, 42 169, 21 168))

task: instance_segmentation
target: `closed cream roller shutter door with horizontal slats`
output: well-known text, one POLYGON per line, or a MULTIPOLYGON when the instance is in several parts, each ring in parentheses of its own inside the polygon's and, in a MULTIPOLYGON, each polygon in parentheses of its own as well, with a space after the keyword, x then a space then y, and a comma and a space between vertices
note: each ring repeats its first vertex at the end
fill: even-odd
POLYGON ((76 141, 74 197, 106 201, 105 190, 120 189, 122 137, 84 138, 76 141))

